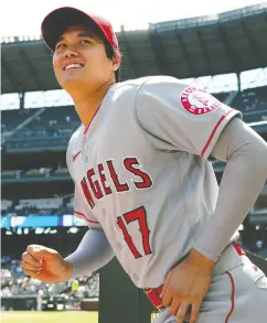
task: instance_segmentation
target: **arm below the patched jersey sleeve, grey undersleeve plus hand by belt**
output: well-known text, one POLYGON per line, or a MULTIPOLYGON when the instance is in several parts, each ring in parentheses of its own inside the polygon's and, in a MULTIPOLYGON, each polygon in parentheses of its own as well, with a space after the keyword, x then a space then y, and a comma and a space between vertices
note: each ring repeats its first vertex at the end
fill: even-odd
POLYGON ((177 314, 179 323, 183 322, 190 304, 190 323, 197 320, 212 269, 267 179, 267 143, 241 119, 226 125, 211 155, 227 162, 214 214, 185 260, 168 273, 162 292, 163 304, 177 314))

